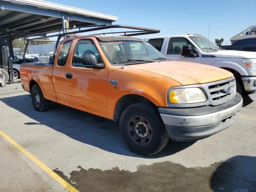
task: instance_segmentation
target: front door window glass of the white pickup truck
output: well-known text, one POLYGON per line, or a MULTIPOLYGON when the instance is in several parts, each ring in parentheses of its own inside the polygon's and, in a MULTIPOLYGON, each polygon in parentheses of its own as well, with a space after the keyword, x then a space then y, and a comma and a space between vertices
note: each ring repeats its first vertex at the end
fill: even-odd
POLYGON ((191 45, 194 47, 187 39, 185 38, 170 38, 169 44, 167 47, 166 54, 176 54, 181 55, 181 50, 184 45, 191 45))

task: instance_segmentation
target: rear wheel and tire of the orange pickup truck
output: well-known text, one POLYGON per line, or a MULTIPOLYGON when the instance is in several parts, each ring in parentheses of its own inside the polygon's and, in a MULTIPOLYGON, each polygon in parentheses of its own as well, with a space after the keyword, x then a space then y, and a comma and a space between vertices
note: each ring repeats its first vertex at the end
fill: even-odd
POLYGON ((35 110, 42 112, 50 108, 50 101, 44 98, 42 90, 38 85, 32 87, 31 98, 35 110))

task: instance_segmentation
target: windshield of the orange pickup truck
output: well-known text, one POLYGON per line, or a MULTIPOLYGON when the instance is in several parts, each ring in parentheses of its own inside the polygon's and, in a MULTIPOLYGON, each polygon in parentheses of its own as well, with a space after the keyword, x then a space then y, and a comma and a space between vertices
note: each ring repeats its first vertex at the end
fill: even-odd
POLYGON ((148 42, 129 37, 100 37, 98 42, 112 64, 138 64, 168 60, 148 42))

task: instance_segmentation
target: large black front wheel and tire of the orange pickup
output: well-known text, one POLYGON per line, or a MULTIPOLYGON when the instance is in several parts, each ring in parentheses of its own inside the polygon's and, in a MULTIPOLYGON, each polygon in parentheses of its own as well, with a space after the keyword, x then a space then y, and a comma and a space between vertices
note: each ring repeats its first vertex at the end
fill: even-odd
POLYGON ((147 103, 128 106, 122 113, 119 126, 127 146, 142 156, 157 154, 169 140, 159 112, 147 103))

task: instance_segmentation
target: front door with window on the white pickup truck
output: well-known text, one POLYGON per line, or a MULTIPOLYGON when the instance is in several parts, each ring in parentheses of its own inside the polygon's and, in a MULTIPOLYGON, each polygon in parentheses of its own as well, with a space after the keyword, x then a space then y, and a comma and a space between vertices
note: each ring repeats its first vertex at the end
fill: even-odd
POLYGON ((200 57, 184 57, 181 55, 181 50, 184 45, 191 45, 192 49, 194 49, 194 45, 191 42, 189 42, 186 38, 170 38, 167 46, 166 57, 175 61, 200 63, 200 57))

